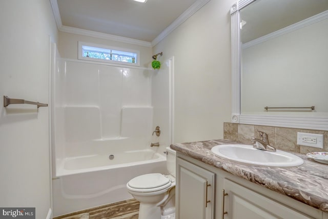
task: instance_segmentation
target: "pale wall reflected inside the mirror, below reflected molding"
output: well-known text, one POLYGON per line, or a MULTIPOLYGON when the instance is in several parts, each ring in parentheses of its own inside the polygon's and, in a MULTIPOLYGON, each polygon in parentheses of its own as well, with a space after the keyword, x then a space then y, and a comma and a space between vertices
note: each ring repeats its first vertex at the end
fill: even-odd
POLYGON ((243 113, 263 112, 266 106, 328 111, 322 101, 328 93, 327 26, 324 19, 242 50, 243 113))

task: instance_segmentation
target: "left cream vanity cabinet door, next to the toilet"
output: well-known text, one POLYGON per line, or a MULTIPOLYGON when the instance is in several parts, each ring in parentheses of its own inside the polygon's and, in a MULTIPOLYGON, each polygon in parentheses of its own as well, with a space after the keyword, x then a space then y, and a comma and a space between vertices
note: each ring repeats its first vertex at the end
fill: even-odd
POLYGON ((213 219, 215 174, 177 157, 176 218, 213 219))

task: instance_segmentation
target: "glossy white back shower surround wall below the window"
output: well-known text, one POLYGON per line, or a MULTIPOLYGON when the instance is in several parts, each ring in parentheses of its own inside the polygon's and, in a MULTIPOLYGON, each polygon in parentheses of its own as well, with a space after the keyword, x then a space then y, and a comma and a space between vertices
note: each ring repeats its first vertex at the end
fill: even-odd
POLYGON ((54 86, 55 142, 64 149, 55 146, 58 156, 88 155, 94 152, 90 148, 94 140, 131 137, 122 136, 127 129, 136 142, 144 142, 142 147, 148 144, 145 136, 151 132, 153 115, 150 70, 71 59, 59 62, 54 86))

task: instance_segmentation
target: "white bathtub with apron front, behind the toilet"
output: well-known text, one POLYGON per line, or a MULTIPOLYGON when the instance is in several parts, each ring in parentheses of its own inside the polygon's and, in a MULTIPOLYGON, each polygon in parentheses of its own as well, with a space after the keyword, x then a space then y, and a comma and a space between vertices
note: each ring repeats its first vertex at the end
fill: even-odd
POLYGON ((68 157, 53 178, 53 216, 132 198, 126 184, 146 173, 167 174, 166 156, 151 149, 68 157))

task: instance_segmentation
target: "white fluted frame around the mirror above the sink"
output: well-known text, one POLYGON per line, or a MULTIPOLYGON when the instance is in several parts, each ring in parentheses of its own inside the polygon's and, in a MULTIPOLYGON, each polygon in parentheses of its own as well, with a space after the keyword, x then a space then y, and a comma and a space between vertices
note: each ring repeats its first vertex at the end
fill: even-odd
POLYGON ((256 0, 240 0, 232 5, 231 54, 232 54, 232 123, 277 126, 300 129, 328 130, 328 116, 315 115, 264 115, 240 112, 240 10, 256 0))

